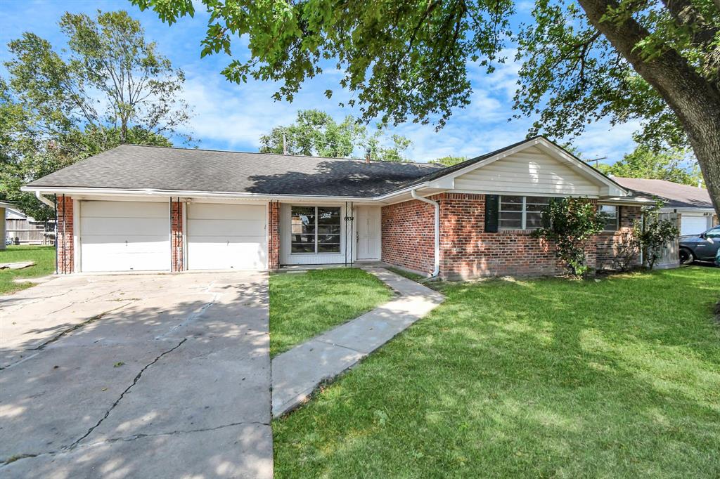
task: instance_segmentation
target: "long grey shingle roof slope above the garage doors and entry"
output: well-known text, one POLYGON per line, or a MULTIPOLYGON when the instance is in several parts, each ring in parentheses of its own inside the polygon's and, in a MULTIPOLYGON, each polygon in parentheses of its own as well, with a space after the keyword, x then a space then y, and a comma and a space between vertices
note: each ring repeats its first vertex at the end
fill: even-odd
POLYGON ((28 186, 370 197, 444 168, 428 163, 121 145, 28 186))

